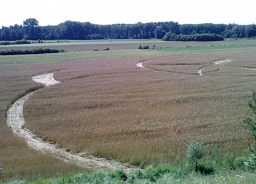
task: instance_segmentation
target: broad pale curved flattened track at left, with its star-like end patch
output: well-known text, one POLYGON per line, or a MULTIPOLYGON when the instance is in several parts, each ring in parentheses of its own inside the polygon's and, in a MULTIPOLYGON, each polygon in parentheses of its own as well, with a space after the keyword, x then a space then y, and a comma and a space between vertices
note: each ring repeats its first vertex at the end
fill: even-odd
MULTIPOLYGON (((34 76, 33 80, 43 83, 45 86, 51 86, 60 83, 54 80, 53 73, 34 76)), ((99 158, 88 155, 79 156, 79 154, 70 153, 66 151, 65 148, 58 148, 57 145, 55 145, 53 142, 44 141, 35 133, 23 128, 25 122, 23 117, 23 104, 34 92, 19 98, 12 104, 12 106, 10 106, 9 110, 7 111, 7 125, 11 127, 13 133, 22 138, 28 146, 36 149, 41 153, 50 153, 63 161, 72 162, 83 168, 108 170, 123 169, 127 173, 137 168, 128 163, 107 160, 106 158, 99 158)))

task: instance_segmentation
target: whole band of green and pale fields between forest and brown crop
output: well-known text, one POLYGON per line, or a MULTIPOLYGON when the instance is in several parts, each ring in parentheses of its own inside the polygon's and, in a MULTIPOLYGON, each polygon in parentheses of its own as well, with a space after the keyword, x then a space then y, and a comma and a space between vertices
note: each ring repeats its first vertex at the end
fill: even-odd
POLYGON ((222 42, 164 42, 159 40, 143 41, 99 41, 99 42, 69 42, 69 43, 40 43, 27 44, 22 46, 0 46, 0 50, 6 49, 33 49, 40 47, 65 49, 65 53, 43 54, 43 55, 7 55, 0 57, 1 64, 28 64, 28 63, 48 63, 84 61, 91 59, 114 59, 126 57, 148 57, 161 55, 187 55, 190 51, 206 52, 207 50, 227 51, 240 50, 241 48, 255 47, 256 41, 222 41, 222 42), (155 44, 157 49, 139 50, 138 45, 155 44), (28 46, 28 45, 33 45, 28 46), (110 48, 110 51, 93 51, 110 48), (229 50, 228 50, 229 49, 229 50))

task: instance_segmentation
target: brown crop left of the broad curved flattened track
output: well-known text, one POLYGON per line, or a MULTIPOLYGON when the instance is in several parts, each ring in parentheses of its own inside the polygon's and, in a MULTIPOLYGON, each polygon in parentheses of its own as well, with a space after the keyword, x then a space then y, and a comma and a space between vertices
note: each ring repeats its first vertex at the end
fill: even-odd
POLYGON ((37 178, 40 176, 63 176, 81 171, 73 164, 64 163, 48 154, 37 153, 23 140, 14 136, 7 126, 5 114, 8 107, 26 91, 40 87, 33 82, 33 74, 56 70, 56 67, 42 65, 6 65, 0 67, 0 165, 4 178, 37 178))

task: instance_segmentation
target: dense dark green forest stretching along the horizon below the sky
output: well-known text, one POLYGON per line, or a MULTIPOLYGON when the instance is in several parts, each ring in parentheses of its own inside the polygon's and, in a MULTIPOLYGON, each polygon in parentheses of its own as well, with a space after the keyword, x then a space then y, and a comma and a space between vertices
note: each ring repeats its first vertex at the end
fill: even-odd
MULTIPOLYGON (((65 21, 57 26, 39 26, 36 19, 30 18, 23 25, 0 29, 0 41, 15 40, 89 40, 89 39, 162 39, 164 36, 176 35, 186 38, 177 41, 190 41, 191 35, 199 34, 204 38, 210 35, 218 38, 251 38, 256 36, 256 25, 238 24, 181 24, 178 22, 135 23, 99 25, 89 22, 65 21), (214 35, 213 35, 214 34, 214 35), (184 36, 186 35, 186 36, 184 36), (190 36, 189 36, 190 35, 190 36)), ((193 38, 195 39, 195 38, 193 38)), ((167 39, 166 39, 167 40, 167 39)), ((175 40, 175 39, 174 39, 175 40)), ((169 39, 167 41, 172 41, 169 39)), ((198 41, 198 40, 197 40, 198 41)), ((203 39, 199 39, 203 41, 203 39)))

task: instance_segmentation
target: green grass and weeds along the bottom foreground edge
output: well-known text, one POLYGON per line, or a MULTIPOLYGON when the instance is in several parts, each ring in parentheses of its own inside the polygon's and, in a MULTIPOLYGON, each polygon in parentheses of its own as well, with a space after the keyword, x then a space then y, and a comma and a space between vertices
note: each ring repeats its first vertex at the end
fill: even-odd
POLYGON ((223 159, 204 162, 213 166, 214 172, 195 172, 187 161, 175 164, 155 164, 130 174, 122 170, 82 172, 59 178, 37 180, 12 180, 6 184, 252 184, 256 183, 256 172, 241 164, 245 157, 226 155, 223 159))

